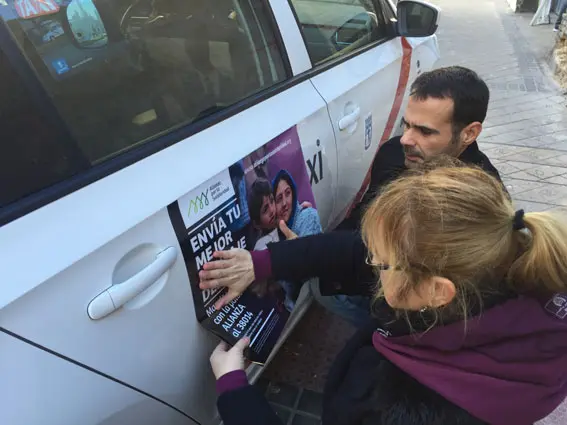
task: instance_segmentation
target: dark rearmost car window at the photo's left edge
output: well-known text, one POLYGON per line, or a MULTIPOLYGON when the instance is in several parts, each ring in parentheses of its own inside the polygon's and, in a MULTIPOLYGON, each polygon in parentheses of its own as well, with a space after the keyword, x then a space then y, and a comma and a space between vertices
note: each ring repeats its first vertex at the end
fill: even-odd
POLYGON ((42 99, 34 89, 0 50, 0 211, 23 194, 71 176, 85 165, 56 114, 51 114, 49 98, 42 99))

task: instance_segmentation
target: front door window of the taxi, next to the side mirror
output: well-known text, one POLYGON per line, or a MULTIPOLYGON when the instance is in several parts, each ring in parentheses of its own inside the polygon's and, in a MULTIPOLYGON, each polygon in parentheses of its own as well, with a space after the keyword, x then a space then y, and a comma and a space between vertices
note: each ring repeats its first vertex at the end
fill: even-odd
POLYGON ((345 55, 388 31, 373 0, 291 0, 313 64, 345 55))

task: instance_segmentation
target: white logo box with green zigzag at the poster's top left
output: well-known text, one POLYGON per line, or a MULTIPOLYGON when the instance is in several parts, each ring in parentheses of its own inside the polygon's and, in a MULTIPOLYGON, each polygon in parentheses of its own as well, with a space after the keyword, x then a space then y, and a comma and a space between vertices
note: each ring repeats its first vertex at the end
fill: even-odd
POLYGON ((234 196, 228 170, 197 186, 179 199, 179 210, 185 227, 190 228, 234 196))

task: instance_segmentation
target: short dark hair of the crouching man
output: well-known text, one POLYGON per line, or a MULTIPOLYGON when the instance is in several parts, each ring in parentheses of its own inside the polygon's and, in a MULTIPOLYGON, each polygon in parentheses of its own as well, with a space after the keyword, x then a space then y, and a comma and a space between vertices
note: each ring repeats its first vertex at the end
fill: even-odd
POLYGON ((490 92, 476 72, 462 66, 449 66, 417 77, 411 85, 410 96, 416 100, 452 99, 453 132, 458 134, 470 123, 484 121, 490 92))

